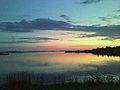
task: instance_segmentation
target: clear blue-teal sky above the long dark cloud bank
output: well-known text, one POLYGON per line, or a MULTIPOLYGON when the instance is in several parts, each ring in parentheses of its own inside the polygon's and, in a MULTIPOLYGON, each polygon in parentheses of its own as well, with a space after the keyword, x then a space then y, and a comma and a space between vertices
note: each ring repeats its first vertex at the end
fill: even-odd
POLYGON ((116 21, 101 21, 99 17, 119 15, 117 10, 120 9, 120 0, 92 0, 92 3, 83 3, 85 1, 87 0, 0 0, 0 21, 36 18, 63 20, 59 16, 64 14, 74 24, 116 24, 116 21))

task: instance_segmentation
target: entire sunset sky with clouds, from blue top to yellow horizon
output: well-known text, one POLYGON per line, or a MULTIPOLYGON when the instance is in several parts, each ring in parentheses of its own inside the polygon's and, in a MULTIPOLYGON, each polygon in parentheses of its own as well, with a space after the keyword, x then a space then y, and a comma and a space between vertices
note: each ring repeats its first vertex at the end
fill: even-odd
POLYGON ((0 0, 0 50, 120 45, 120 0, 0 0))

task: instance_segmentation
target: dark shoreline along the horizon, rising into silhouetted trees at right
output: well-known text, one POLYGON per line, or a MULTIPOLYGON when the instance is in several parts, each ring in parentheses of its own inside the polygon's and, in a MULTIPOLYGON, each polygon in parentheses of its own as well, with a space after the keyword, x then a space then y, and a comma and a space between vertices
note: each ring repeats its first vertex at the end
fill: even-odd
POLYGON ((51 51, 0 51, 0 55, 9 55, 10 53, 39 53, 39 52, 65 52, 65 53, 92 53, 95 55, 120 56, 120 46, 116 47, 97 47, 91 50, 51 50, 51 51))

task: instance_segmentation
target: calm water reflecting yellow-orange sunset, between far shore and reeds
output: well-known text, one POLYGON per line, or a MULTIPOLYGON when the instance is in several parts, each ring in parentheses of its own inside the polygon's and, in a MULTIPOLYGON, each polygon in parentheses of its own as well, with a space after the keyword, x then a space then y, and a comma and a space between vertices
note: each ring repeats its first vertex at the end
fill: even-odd
POLYGON ((86 53, 40 52, 0 56, 0 74, 28 71, 37 73, 120 74, 120 57, 86 53))

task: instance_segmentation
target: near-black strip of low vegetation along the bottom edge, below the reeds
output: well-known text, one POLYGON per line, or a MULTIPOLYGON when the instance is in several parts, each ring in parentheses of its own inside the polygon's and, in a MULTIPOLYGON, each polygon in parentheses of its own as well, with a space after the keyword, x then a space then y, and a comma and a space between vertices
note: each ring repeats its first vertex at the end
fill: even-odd
POLYGON ((39 85, 15 82, 3 86, 0 90, 120 90, 120 84, 113 83, 68 83, 39 85))

